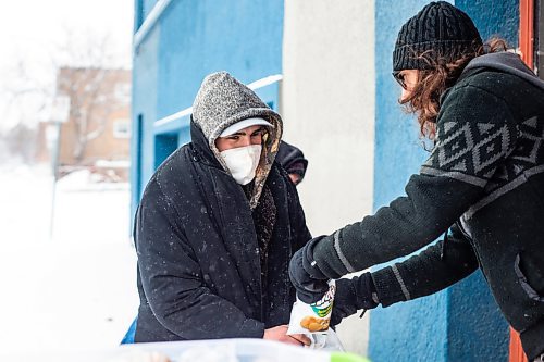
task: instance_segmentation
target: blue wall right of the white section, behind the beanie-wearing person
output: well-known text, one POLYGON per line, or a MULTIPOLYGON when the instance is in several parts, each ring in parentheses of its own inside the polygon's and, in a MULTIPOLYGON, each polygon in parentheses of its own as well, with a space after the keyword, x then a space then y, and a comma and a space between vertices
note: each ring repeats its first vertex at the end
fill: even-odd
MULTIPOLYGON (((400 26, 430 1, 375 0, 375 155, 374 210, 405 195, 404 186, 419 171, 426 152, 416 121, 397 99, 392 52, 400 26)), ((500 34, 517 45, 518 1, 456 1, 485 40, 500 34)), ((381 361, 507 360, 508 327, 480 272, 434 296, 371 313, 369 355, 381 361)))

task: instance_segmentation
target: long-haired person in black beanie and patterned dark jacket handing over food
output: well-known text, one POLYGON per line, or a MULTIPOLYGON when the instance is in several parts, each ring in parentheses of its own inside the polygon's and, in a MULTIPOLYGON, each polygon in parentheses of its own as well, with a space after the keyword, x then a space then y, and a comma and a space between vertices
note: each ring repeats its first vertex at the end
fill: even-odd
POLYGON ((504 40, 483 45, 470 17, 444 1, 403 25, 393 75, 432 152, 406 196, 295 253, 289 276, 298 297, 319 300, 326 280, 339 278, 338 323, 480 269, 529 360, 544 361, 544 82, 504 40), (341 278, 421 248, 404 262, 341 278))

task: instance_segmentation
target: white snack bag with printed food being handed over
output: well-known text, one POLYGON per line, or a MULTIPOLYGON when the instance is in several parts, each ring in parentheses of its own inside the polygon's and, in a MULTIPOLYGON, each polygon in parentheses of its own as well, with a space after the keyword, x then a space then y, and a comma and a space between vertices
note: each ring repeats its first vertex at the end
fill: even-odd
POLYGON ((307 304, 297 298, 290 311, 287 334, 326 334, 331 322, 335 291, 335 282, 330 280, 329 291, 318 302, 307 304))

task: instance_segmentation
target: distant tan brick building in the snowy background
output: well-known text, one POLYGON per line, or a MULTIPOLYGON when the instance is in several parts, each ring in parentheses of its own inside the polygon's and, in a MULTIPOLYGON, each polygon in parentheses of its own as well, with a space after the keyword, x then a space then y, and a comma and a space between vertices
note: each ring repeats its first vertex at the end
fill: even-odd
POLYGON ((113 180, 127 180, 131 139, 131 71, 62 67, 57 95, 70 100, 70 114, 62 123, 44 122, 38 130, 40 162, 49 162, 59 137, 58 173, 79 168, 102 173, 113 180), (52 147, 53 146, 53 147, 52 147))

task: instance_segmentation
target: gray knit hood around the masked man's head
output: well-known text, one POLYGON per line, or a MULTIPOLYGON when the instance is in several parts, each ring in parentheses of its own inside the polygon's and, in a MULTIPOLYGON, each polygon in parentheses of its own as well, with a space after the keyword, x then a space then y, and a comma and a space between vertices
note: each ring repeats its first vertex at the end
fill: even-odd
POLYGON ((255 186, 249 200, 254 209, 262 192, 262 187, 274 162, 282 138, 283 122, 277 113, 272 111, 257 95, 236 80, 226 72, 208 75, 193 103, 193 121, 202 130, 215 159, 230 173, 215 139, 233 124, 251 117, 261 117, 270 122, 274 128, 269 130, 262 145, 262 153, 255 176, 255 186))

